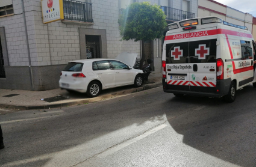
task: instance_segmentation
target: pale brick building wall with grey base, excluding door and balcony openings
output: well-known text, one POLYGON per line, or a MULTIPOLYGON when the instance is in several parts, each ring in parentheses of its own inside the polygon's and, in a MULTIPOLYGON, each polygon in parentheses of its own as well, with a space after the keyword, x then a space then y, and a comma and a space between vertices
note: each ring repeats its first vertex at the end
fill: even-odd
MULTIPOLYGON (((86 40, 86 34, 92 34, 90 29, 96 30, 95 32, 104 31, 106 46, 102 47, 106 47, 106 51, 102 55, 106 55, 107 58, 116 58, 121 52, 138 53, 138 57, 141 56, 140 42, 120 41, 117 21, 120 8, 123 7, 120 4, 122 0, 91 0, 93 25, 70 25, 61 21, 43 24, 41 0, 23 1, 28 46, 22 1, 13 0, 13 16, 0 17, 0 28, 5 31, 7 48, 4 59, 8 60, 5 63, 6 78, 0 79, 0 88, 33 90, 32 83, 34 83, 34 90, 58 88, 59 74, 64 65, 68 61, 84 58, 85 55, 81 55, 81 41, 86 40), (80 34, 80 29, 83 29, 85 35, 80 34), (29 53, 31 67, 29 67, 29 53)), ((79 1, 89 2, 88 0, 79 1)), ((197 16, 197 1, 188 1, 190 1, 192 13, 197 16)), ((149 2, 159 4, 160 0, 149 2)), ((168 3, 173 8, 179 10, 182 8, 181 0, 171 0, 168 3)), ((154 43, 154 49, 151 57, 154 58, 155 71, 160 72, 161 41, 157 39, 152 43, 154 43)))

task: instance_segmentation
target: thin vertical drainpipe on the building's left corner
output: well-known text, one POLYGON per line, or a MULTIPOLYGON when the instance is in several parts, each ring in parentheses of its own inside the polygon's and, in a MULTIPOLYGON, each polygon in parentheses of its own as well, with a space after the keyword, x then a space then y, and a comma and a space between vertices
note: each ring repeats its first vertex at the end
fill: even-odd
POLYGON ((27 22, 26 22, 25 8, 24 8, 24 1, 23 0, 21 0, 21 5, 22 5, 22 13, 23 13, 24 26, 25 26, 27 50, 28 50, 28 64, 29 64, 28 67, 30 67, 30 82, 31 82, 31 86, 32 86, 32 88, 34 90, 33 73, 32 73, 31 58, 30 58, 30 46, 28 45, 28 29, 27 29, 27 22))

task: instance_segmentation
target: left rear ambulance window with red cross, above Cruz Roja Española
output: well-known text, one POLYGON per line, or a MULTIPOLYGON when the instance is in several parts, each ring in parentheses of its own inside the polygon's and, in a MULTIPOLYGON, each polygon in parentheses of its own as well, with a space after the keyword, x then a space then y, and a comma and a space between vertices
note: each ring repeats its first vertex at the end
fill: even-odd
POLYGON ((189 42, 166 44, 166 64, 189 63, 189 42))

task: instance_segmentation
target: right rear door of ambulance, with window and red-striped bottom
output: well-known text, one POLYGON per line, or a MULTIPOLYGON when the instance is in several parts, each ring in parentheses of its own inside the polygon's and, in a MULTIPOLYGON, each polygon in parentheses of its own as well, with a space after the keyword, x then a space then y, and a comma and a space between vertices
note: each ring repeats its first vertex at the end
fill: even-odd
POLYGON ((190 91, 216 93, 217 29, 196 29, 190 36, 190 91))

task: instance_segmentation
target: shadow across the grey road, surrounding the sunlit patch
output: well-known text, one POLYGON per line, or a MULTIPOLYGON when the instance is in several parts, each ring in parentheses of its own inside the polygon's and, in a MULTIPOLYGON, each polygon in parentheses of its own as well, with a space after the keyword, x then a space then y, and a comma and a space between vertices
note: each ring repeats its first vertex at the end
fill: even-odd
MULTIPOLYGON (((3 124, 7 148, 0 150, 0 165, 76 147, 93 148, 96 146, 87 145, 93 139, 134 124, 140 128, 148 121, 163 122, 165 114, 170 126, 184 136, 184 144, 236 165, 255 166, 255 92, 252 86, 246 87, 237 93, 236 102, 225 103, 222 99, 208 97, 178 98, 155 89, 97 105, 73 106, 62 108, 61 111, 33 111, 51 115, 51 118, 3 124), (247 106, 245 102, 250 105, 247 106)), ((31 111, 25 112, 33 115, 31 111)), ((16 113, 16 118, 21 119, 22 114, 24 112, 20 115, 16 113)), ((126 133, 132 132, 119 135, 125 136, 126 133)), ((140 134, 138 132, 137 135, 140 134)), ((119 140, 118 136, 111 138, 113 141, 119 140)), ((86 156, 94 155, 93 152, 91 154, 86 156)), ((49 160, 42 160, 39 164, 30 163, 29 166, 46 165, 49 160)))

